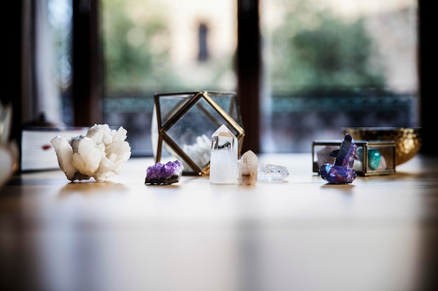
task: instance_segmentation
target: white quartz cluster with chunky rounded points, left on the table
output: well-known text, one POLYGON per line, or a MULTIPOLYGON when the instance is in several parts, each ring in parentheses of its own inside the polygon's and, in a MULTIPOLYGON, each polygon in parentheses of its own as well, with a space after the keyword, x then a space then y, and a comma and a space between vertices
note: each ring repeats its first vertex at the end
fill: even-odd
POLYGON ((131 147, 125 141, 127 130, 120 126, 111 130, 108 124, 94 124, 85 136, 57 135, 50 142, 55 148, 59 167, 67 179, 105 181, 120 174, 131 157, 131 147))

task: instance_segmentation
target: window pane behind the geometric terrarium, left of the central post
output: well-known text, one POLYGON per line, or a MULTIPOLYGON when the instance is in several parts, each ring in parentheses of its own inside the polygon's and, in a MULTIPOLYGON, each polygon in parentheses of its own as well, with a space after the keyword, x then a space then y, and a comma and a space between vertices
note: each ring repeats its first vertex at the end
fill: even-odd
POLYGON ((153 95, 235 91, 234 1, 102 0, 104 122, 151 155, 153 95))

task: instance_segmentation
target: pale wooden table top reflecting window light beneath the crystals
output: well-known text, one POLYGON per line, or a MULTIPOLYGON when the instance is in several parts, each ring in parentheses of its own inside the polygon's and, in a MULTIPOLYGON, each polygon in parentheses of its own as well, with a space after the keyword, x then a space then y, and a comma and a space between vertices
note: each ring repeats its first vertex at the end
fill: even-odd
POLYGON ((311 154, 259 161, 290 176, 148 186, 152 158, 104 183, 16 174, 0 189, 0 290, 438 290, 437 157, 348 185, 313 174, 311 154))

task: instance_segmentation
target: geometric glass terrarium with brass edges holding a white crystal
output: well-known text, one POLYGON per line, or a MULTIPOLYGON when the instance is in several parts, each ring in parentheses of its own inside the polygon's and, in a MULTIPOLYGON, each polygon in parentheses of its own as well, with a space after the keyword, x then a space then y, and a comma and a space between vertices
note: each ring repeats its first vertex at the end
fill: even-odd
POLYGON ((243 130, 235 92, 155 93, 151 140, 155 163, 183 163, 183 174, 209 174, 211 135, 224 124, 236 135, 239 156, 243 130))

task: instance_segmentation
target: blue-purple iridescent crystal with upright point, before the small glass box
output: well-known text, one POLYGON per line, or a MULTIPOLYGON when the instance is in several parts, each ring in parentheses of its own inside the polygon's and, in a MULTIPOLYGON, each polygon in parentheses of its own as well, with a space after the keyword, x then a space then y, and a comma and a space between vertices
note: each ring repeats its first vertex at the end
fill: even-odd
POLYGON ((356 172, 353 169, 354 157, 358 146, 353 137, 348 133, 344 137, 341 149, 337 153, 334 164, 325 163, 321 165, 319 174, 329 184, 349 184, 356 179, 356 172))

